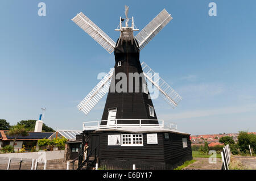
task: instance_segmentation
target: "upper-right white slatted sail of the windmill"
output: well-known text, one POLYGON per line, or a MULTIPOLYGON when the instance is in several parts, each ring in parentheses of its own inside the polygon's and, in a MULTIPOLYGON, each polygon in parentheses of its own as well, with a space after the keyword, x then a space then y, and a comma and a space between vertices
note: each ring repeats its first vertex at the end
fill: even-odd
POLYGON ((142 50, 165 26, 172 20, 172 16, 163 9, 155 18, 135 36, 142 50))

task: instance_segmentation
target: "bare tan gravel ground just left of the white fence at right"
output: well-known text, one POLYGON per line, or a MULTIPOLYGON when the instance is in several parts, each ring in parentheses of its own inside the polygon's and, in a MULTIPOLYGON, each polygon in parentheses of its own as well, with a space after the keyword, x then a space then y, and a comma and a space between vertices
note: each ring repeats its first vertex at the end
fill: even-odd
POLYGON ((184 170, 221 170, 222 161, 217 158, 217 163, 209 163, 209 158, 194 158, 196 162, 185 167, 184 170))

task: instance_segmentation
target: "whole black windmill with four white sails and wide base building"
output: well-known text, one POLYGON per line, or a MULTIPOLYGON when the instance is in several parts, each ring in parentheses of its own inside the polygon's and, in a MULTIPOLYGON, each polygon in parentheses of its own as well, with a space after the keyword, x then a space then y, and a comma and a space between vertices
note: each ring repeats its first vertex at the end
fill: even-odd
POLYGON ((115 66, 79 104, 86 115, 108 93, 102 119, 83 123, 80 169, 94 163, 102 165, 139 165, 174 168, 192 159, 188 133, 156 117, 152 96, 160 94, 176 107, 181 97, 148 65, 139 60, 139 52, 172 17, 164 9, 137 36, 133 17, 120 17, 115 43, 82 12, 73 18, 109 53, 114 52, 115 66), (129 27, 129 21, 131 26, 129 27), (125 21, 125 22, 124 22, 125 21), (148 87, 154 88, 150 95, 148 87), (86 155, 84 155, 86 153, 86 155))

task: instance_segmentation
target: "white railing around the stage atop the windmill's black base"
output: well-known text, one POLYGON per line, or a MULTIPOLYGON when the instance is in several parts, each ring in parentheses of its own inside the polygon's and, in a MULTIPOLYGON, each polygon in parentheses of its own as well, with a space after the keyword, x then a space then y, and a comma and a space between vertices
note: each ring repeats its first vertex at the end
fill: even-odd
POLYGON ((164 125, 164 120, 159 120, 159 119, 112 119, 112 120, 87 121, 82 123, 82 127, 83 127, 83 131, 106 129, 106 128, 167 128, 167 129, 172 129, 174 131, 177 131, 176 123, 164 125), (127 121, 133 121, 136 123, 124 123, 127 121), (148 124, 150 122, 151 123, 157 122, 158 124, 148 124))

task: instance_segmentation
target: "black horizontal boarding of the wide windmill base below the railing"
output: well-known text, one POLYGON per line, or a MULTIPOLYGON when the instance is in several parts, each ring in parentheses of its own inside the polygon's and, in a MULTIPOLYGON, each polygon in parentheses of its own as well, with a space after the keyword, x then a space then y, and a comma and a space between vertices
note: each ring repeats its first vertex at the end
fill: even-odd
MULTIPOLYGON (((114 164, 117 160, 125 163, 156 163, 177 167, 185 161, 192 159, 191 142, 188 134, 168 133, 169 138, 164 138, 164 133, 158 134, 158 144, 147 144, 147 133, 143 134, 143 146, 108 146, 109 134, 131 134, 127 132, 96 132, 100 139, 99 154, 100 164, 114 164), (183 148, 182 138, 187 138, 187 148, 183 148)), ((92 136, 89 135, 90 137, 92 136)), ((91 138, 89 139, 91 140, 91 138)), ((92 143, 89 141, 89 146, 92 143)), ((92 151, 89 149, 89 153, 92 151)))

